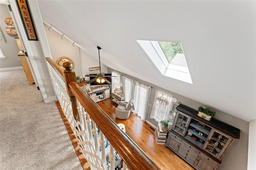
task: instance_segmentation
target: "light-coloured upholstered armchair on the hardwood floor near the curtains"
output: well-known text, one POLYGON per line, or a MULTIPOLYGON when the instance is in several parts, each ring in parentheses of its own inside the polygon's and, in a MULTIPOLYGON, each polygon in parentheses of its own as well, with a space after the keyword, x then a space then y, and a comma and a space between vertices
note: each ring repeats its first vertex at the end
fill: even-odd
POLYGON ((128 119, 132 109, 134 109, 132 99, 129 102, 120 101, 119 105, 116 108, 116 118, 128 119))

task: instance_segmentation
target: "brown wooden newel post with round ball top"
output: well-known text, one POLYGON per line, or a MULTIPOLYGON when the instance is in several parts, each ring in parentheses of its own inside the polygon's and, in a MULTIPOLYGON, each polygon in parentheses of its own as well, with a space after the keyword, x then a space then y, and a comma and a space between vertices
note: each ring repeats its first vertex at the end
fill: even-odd
POLYGON ((73 95, 73 93, 70 91, 70 87, 68 86, 69 83, 71 82, 75 82, 76 83, 76 73, 73 71, 72 68, 72 63, 71 62, 64 62, 62 65, 65 70, 64 70, 64 79, 65 79, 65 83, 66 83, 66 89, 67 89, 67 93, 70 97, 70 101, 72 103, 72 111, 73 111, 73 116, 74 118, 77 120, 79 120, 79 115, 78 115, 78 111, 77 111, 77 102, 76 102, 76 97, 73 95))

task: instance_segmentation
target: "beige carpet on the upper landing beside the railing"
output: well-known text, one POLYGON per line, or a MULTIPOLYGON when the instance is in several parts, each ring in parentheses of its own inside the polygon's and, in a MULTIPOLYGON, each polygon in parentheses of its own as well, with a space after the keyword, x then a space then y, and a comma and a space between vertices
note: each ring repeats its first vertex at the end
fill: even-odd
POLYGON ((23 70, 0 73, 0 170, 80 170, 55 102, 23 70))

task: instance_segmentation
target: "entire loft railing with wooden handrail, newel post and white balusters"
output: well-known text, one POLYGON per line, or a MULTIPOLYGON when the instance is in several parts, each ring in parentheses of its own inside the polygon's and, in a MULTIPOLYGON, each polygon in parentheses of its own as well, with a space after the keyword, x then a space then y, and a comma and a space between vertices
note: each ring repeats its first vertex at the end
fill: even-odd
POLYGON ((76 75, 70 63, 64 63, 66 69, 63 72, 52 59, 46 60, 56 98, 91 170, 114 170, 120 161, 123 170, 160 169, 76 84, 76 75), (74 119, 78 117, 77 112, 79 121, 74 119))

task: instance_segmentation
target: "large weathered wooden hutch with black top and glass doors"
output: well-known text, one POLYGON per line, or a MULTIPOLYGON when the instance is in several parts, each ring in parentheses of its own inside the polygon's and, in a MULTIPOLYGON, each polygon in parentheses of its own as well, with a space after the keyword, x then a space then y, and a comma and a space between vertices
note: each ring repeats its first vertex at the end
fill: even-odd
POLYGON ((206 121, 197 111, 180 104, 165 146, 198 170, 215 170, 240 130, 212 118, 206 121))

